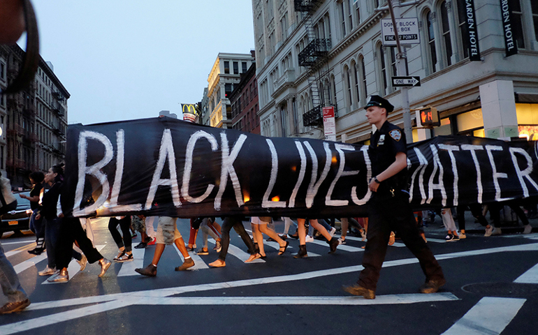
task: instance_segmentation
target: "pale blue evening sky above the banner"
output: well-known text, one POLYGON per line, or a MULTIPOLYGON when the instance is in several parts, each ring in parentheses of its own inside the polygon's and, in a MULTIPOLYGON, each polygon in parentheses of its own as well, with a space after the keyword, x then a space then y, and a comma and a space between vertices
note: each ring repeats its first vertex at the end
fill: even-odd
POLYGON ((181 117, 182 103, 202 100, 219 52, 254 49, 252 0, 32 3, 41 57, 71 94, 68 124, 181 117))

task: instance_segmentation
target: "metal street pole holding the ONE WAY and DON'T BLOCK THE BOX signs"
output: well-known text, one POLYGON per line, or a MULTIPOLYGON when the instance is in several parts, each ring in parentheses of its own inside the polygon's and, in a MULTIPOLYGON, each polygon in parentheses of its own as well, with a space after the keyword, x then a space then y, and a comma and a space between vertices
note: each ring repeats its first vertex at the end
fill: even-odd
MULTIPOLYGON (((392 18, 392 27, 396 39, 396 47, 398 48, 398 53, 396 54, 396 71, 398 75, 408 75, 405 73, 405 58, 407 55, 402 51, 402 46, 400 45, 400 37, 398 36, 398 28, 396 26, 396 19, 399 19, 401 16, 400 12, 400 0, 388 0, 388 11, 391 13, 392 18), (395 8, 393 4, 395 3, 395 8)), ((403 110, 403 119, 404 119, 404 133, 407 143, 413 142, 413 131, 411 126, 411 113, 409 112, 409 88, 400 87, 400 94, 402 95, 402 110, 403 110)))

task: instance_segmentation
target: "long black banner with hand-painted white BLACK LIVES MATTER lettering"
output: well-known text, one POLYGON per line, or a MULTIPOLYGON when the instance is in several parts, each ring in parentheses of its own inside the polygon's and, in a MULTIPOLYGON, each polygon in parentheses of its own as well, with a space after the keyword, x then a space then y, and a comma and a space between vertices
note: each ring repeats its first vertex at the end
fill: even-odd
MULTIPOLYGON (((535 142, 440 136, 408 163, 417 209, 538 195, 535 142)), ((61 199, 74 216, 363 216, 371 178, 368 146, 163 117, 68 126, 61 199)))

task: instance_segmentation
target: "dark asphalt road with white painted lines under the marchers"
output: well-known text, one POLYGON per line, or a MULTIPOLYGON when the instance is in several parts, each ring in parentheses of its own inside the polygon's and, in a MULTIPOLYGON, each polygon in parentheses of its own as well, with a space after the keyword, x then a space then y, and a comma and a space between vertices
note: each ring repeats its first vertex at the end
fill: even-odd
MULTIPOLYGON (((188 237, 189 223, 178 221, 188 237)), ((96 245, 109 259, 117 254, 108 219, 93 221, 96 245)), ((249 225, 245 224, 249 229, 249 225)), ((277 222, 277 232, 282 223, 277 222)), ((361 270, 364 242, 348 237, 328 255, 323 241, 307 244, 309 257, 294 259, 298 241, 282 256, 266 247, 266 260, 244 263, 244 244, 231 234, 226 267, 209 268, 217 253, 194 255, 196 269, 167 246, 154 278, 133 271, 152 260, 154 246, 135 249, 135 260, 115 263, 98 278, 98 263, 77 271, 68 283, 38 276, 46 265, 33 235, 4 237, 3 248, 30 295, 22 313, 2 315, 0 334, 536 334, 538 234, 507 234, 444 242, 427 229, 428 245, 444 269, 446 285, 422 295, 418 262, 400 243, 388 249, 377 297, 351 297, 342 285, 361 270), (236 247, 236 248, 235 248, 236 247)), ((201 245, 198 236, 198 247, 201 245)), ((138 244, 140 237, 134 239, 138 244)), ((275 244, 276 246, 276 244, 275 244)))

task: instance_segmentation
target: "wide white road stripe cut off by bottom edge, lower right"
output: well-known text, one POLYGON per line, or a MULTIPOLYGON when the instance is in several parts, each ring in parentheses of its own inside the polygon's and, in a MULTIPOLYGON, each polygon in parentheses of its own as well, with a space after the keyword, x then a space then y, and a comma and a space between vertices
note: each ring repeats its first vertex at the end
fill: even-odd
POLYGON ((443 335, 500 334, 526 299, 484 297, 443 335))

